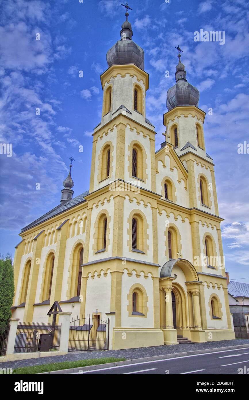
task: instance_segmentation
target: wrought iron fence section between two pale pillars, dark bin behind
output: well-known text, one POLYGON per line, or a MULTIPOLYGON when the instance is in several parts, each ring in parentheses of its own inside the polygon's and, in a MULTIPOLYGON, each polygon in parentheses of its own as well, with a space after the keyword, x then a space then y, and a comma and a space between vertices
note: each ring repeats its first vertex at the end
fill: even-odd
POLYGON ((61 324, 19 322, 14 353, 56 351, 60 347, 61 324))

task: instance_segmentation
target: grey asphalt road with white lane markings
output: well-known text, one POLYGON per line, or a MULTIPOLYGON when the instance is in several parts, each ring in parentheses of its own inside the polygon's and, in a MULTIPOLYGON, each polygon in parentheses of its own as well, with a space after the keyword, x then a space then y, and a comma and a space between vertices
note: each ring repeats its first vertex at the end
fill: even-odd
MULTIPOLYGON (((213 353, 174 357, 167 360, 139 362, 137 364, 100 368, 83 374, 236 374, 238 368, 248 368, 249 347, 213 353)), ((77 373, 78 374, 78 373, 77 373)), ((244 372, 245 374, 245 372, 244 372)), ((228 379, 225 379, 228 381, 228 379)))

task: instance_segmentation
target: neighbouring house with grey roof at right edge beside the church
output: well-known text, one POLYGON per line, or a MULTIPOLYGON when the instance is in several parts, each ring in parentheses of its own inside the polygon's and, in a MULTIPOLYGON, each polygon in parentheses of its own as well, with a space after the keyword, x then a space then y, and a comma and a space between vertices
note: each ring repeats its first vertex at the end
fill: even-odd
POLYGON ((249 284, 231 281, 227 285, 227 291, 230 312, 233 314, 235 336, 236 338, 246 337, 246 327, 247 337, 249 337, 249 284))

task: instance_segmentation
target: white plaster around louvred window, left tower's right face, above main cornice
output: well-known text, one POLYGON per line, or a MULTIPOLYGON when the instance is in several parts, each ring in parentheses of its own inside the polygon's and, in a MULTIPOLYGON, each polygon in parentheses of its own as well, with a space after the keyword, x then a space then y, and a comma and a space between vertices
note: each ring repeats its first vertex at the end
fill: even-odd
POLYGON ((143 137, 142 132, 140 131, 140 134, 137 135, 136 130, 130 129, 129 126, 126 126, 125 128, 125 181, 131 181, 134 180, 129 176, 129 162, 128 162, 128 156, 130 156, 130 151, 128 150, 128 146, 130 146, 131 142, 133 140, 137 140, 141 145, 143 145, 143 148, 145 149, 145 153, 147 155, 146 159, 146 174, 147 174, 147 179, 146 182, 140 182, 140 186, 142 188, 151 190, 151 150, 150 150, 150 140, 149 137, 146 136, 146 138, 143 137))

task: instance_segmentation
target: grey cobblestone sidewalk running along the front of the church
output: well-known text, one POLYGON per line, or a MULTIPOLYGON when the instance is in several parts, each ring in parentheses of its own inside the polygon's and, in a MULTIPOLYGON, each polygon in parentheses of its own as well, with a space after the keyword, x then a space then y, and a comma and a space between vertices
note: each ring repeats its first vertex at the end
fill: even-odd
POLYGON ((217 342, 189 343, 189 344, 178 344, 172 346, 141 347, 141 348, 125 349, 125 350, 70 352, 64 356, 51 356, 51 357, 41 357, 41 358, 30 358, 29 360, 1 362, 0 368, 4 367, 18 368, 18 367, 27 367, 33 365, 49 364, 52 362, 77 361, 77 360, 85 360, 88 358, 103 358, 103 357, 116 357, 116 358, 124 357, 127 360, 134 360, 136 358, 142 358, 142 357, 161 356, 163 354, 175 354, 185 351, 236 346, 239 344, 248 344, 249 346, 249 339, 220 340, 217 342))

